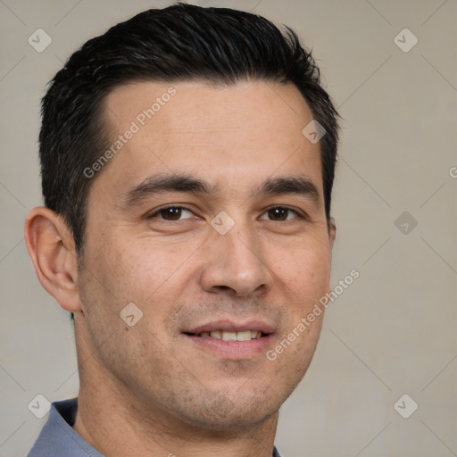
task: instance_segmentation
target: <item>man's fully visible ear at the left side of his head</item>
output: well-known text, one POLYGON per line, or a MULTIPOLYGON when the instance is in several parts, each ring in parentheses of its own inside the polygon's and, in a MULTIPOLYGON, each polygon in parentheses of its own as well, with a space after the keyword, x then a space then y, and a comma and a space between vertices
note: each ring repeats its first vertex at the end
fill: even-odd
POLYGON ((41 285, 64 310, 81 311, 74 241, 62 217, 37 206, 25 221, 24 236, 41 285))

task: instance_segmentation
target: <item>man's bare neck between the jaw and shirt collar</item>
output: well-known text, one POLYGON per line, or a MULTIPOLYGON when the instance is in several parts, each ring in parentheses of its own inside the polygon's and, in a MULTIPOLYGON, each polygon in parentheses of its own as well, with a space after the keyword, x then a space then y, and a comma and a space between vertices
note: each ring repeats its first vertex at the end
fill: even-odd
POLYGON ((158 404, 145 403, 92 351, 79 350, 78 355, 80 389, 73 428, 99 453, 107 457, 271 457, 278 411, 242 431, 198 427, 158 404))

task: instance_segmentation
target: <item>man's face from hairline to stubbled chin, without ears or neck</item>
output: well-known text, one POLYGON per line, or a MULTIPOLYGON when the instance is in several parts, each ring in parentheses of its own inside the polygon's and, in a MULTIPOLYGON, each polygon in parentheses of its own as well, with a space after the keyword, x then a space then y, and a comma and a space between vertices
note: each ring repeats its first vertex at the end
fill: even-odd
POLYGON ((163 417, 245 428, 278 411, 320 334, 322 314, 266 355, 329 291, 320 147, 303 136, 312 113, 295 86, 172 87, 151 119, 140 114, 170 85, 117 87, 104 101, 112 144, 137 131, 92 178, 77 334, 103 388, 163 417), (143 312, 132 327, 128 303, 143 312), (225 341, 249 330, 262 337, 225 341))

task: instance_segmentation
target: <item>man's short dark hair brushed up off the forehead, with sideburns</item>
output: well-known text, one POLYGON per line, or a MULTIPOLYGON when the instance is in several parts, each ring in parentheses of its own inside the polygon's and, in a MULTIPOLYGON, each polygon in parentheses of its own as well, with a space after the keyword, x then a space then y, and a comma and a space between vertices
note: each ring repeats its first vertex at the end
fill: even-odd
MULTIPOLYGON (((262 16, 229 8, 173 4, 120 22, 87 41, 50 82, 39 134, 45 204, 83 247, 87 195, 94 179, 84 170, 106 149, 103 99, 131 81, 203 79, 214 85, 241 80, 286 84, 300 90, 326 130, 320 139, 325 212, 330 217, 337 161, 337 111, 320 85, 320 71, 295 32, 282 33, 262 16)), ((304 127, 304 126, 303 126, 304 127)))

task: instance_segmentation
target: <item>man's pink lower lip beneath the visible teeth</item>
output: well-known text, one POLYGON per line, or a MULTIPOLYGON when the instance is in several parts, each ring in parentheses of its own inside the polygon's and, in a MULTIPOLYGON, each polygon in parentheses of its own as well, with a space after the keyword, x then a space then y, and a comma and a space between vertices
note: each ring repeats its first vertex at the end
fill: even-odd
POLYGON ((216 353, 220 357, 230 360, 250 359, 259 353, 266 353, 273 338, 273 334, 269 334, 266 337, 247 341, 224 341, 213 337, 183 335, 203 350, 216 353))

